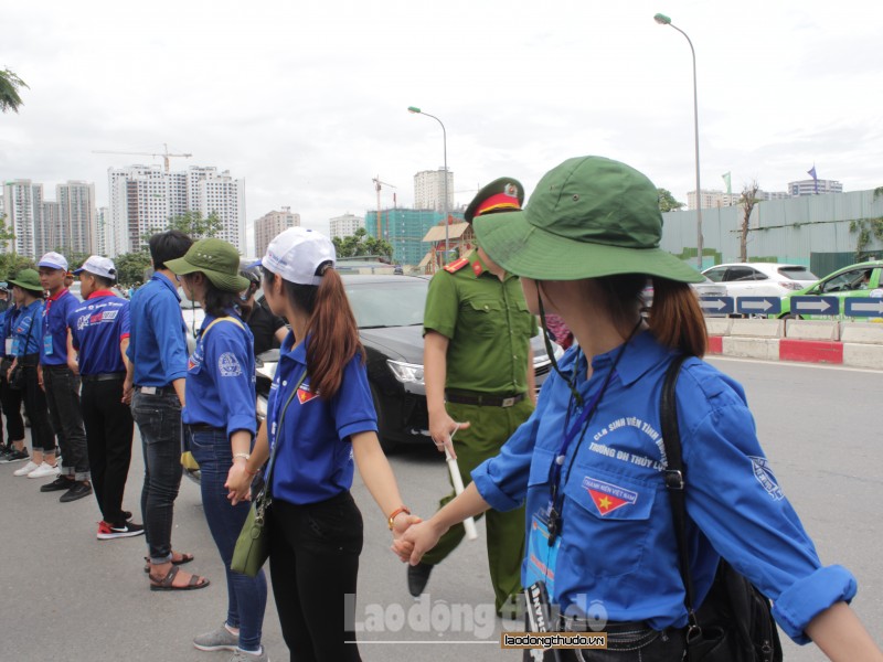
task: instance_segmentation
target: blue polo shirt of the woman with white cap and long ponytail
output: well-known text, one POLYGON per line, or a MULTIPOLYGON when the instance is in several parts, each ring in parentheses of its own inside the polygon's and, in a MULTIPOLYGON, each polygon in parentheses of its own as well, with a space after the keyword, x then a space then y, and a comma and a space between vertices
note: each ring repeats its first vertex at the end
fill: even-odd
MULTIPOLYGON (((214 331, 212 331, 214 332, 214 331)), ((353 460, 350 436, 376 431, 377 415, 368 385, 361 354, 343 369, 340 389, 331 399, 310 389, 308 376, 292 393, 307 369, 306 342, 291 349, 289 332, 279 350, 279 366, 267 402, 270 448, 277 444, 273 467, 273 499, 305 504, 325 501, 352 485, 353 460), (278 423, 285 404, 283 428, 278 423)))

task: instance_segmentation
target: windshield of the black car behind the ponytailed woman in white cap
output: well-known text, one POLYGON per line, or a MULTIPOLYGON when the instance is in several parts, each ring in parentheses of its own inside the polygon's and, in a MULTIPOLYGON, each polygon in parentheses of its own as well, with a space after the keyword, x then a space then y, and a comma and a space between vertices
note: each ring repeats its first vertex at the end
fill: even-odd
POLYGON ((344 285, 360 329, 423 324, 428 280, 405 278, 344 285))

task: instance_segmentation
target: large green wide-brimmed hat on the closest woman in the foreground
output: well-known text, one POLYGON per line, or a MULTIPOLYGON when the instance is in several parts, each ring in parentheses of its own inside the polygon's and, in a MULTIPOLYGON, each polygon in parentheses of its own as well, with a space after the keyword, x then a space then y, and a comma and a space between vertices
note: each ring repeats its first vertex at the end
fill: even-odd
POLYGON ((524 211, 472 222, 481 247, 507 271, 535 280, 647 274, 681 282, 702 275, 659 247, 659 193, 643 174, 602 157, 550 170, 524 211))

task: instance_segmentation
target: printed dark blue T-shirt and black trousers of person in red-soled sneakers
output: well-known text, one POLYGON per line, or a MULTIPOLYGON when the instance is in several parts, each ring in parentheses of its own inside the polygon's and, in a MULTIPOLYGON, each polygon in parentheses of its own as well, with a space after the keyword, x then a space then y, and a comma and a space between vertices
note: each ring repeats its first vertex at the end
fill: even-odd
POLYGON ((126 364, 120 343, 129 338, 129 302, 111 290, 96 290, 67 316, 79 353, 81 403, 92 487, 104 522, 124 526, 123 494, 131 462, 135 424, 123 402, 126 364))

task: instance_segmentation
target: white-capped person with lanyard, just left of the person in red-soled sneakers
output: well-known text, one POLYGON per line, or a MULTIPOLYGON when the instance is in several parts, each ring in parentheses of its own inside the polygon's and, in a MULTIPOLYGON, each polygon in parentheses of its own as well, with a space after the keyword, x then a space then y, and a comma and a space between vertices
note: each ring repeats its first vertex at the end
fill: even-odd
MULTIPOLYGON (((49 292, 43 309, 43 342, 40 344, 39 370, 52 429, 58 437, 62 456, 61 474, 51 483, 42 485, 40 491, 64 490, 60 499, 64 503, 92 494, 86 429, 83 427, 79 406, 79 376, 67 365, 67 316, 79 301, 64 286, 67 275, 67 260, 64 256, 46 253, 36 266, 40 284, 49 292)), ((33 417, 31 420, 33 421, 33 417)))

